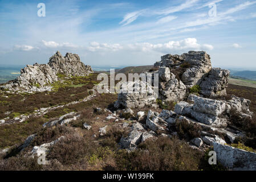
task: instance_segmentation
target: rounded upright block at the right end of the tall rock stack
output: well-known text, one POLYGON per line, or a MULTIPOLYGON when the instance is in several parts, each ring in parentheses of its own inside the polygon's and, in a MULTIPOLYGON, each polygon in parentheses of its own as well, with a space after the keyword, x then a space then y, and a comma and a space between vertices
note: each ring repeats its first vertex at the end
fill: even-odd
POLYGON ((204 81, 201 82, 201 92, 206 97, 226 96, 229 71, 227 69, 213 68, 204 81))

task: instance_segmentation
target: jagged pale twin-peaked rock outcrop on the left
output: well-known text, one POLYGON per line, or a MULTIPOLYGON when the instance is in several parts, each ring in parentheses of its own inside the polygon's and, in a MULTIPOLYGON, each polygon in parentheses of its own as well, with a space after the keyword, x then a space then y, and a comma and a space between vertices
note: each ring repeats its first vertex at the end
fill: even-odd
POLYGON ((15 80, 1 86, 1 89, 22 92, 44 92, 51 90, 51 84, 58 81, 57 74, 67 76, 85 76, 92 73, 90 65, 84 65, 76 54, 59 51, 50 58, 48 64, 33 64, 21 69, 21 75, 15 80))

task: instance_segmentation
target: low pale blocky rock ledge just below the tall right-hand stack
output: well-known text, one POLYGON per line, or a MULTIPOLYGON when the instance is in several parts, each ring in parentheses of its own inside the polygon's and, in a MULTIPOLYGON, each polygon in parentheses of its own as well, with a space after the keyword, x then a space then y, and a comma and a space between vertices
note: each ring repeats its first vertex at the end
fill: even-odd
POLYGON ((235 110, 243 118, 251 117, 250 102, 244 98, 232 96, 232 100, 229 101, 213 100, 196 95, 189 96, 189 98, 192 98, 190 101, 193 100, 193 104, 181 101, 175 105, 174 112, 196 119, 206 125, 225 127, 230 120, 230 110, 235 110))

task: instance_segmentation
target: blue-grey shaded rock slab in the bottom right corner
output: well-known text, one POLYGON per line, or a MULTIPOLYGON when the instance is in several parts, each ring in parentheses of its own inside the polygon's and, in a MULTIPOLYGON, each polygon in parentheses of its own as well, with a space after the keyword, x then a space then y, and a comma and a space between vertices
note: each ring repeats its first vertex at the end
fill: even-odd
POLYGON ((256 153, 241 150, 220 143, 213 143, 217 160, 223 166, 233 170, 256 170, 256 153))

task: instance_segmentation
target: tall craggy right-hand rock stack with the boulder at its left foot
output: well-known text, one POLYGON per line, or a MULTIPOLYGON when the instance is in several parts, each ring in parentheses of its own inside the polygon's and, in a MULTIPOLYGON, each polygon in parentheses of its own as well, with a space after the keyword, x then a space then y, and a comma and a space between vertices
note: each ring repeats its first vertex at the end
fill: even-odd
MULTIPOLYGON (((188 97, 190 88, 198 85, 202 97, 226 96, 227 78, 229 71, 212 68, 210 56, 204 51, 189 51, 182 55, 164 55, 161 61, 154 64, 158 71, 147 72, 152 76, 155 84, 155 73, 159 74, 158 98, 163 102, 184 101, 188 97), (154 73, 154 74, 153 74, 154 73)), ((153 83, 154 82, 154 83, 153 83)), ((130 85, 135 82, 130 83, 130 85)), ((157 85, 153 85, 157 87, 157 85)), ((131 87, 131 86, 130 86, 131 87)), ((128 90, 128 89, 127 89, 128 90)), ((151 105, 153 97, 147 94, 119 93, 116 107, 144 107, 151 105)))

